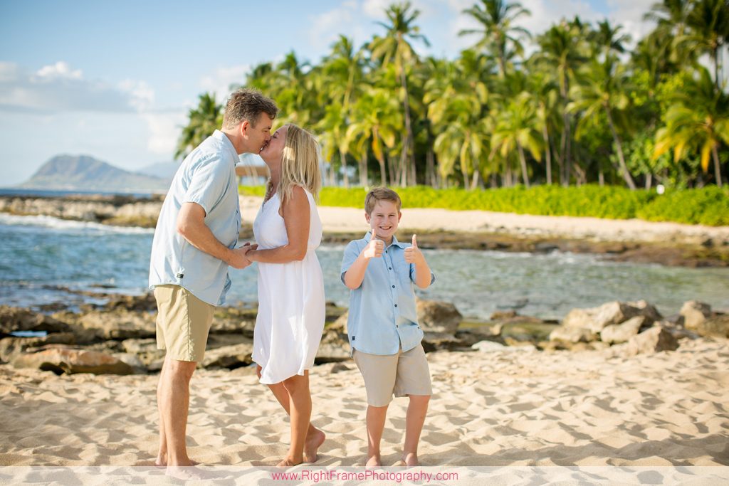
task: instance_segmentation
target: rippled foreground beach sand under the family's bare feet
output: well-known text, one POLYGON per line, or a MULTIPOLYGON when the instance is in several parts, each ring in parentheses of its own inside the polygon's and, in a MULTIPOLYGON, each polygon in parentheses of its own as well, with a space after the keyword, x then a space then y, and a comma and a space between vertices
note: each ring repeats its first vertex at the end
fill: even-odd
MULTIPOLYGON (((424 466, 717 466, 729 464, 729 345, 682 341, 634 358, 609 350, 429 354, 434 396, 424 466)), ((351 361, 312 377, 322 466, 362 465, 364 388, 351 361)), ((0 465, 141 466, 157 447, 156 376, 63 375, 0 367, 0 465)), ((407 399, 395 399, 383 463, 402 447, 407 399)), ((271 466, 289 423, 248 369, 198 371, 192 458, 271 466)), ((0 470, 1 471, 1 470, 0 470)), ((447 484, 447 483, 446 483, 447 484)))

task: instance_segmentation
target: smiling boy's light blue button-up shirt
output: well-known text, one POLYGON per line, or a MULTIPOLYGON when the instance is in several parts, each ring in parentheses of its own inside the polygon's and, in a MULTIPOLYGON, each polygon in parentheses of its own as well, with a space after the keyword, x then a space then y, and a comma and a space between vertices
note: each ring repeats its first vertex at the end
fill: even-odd
MULTIPOLYGON (((341 279, 368 243, 370 232, 362 240, 351 241, 344 250, 341 279)), ((405 262, 405 248, 410 243, 392 243, 381 258, 370 259, 364 280, 349 294, 347 334, 352 350, 362 353, 397 354, 407 351, 423 340, 415 308, 415 264, 405 262)), ((430 274, 430 281, 435 276, 430 274)))

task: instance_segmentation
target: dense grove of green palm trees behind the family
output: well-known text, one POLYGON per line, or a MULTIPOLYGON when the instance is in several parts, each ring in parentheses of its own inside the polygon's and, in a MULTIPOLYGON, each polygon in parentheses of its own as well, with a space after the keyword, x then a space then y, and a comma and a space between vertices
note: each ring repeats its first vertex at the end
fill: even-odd
MULTIPOLYGON (((240 86, 319 135, 330 186, 684 189, 729 176, 727 0, 661 0, 643 39, 579 17, 534 35, 517 1, 477 0, 462 15, 472 47, 454 59, 419 54, 429 41, 405 1, 362 46, 340 35, 319 63, 289 52, 240 86)), ((220 111, 200 97, 179 156, 220 111)))

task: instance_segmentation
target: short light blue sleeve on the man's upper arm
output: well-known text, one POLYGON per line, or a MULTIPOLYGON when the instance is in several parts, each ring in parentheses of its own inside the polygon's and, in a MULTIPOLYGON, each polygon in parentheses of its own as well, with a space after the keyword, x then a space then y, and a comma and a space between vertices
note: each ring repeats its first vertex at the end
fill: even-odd
POLYGON ((190 186, 182 202, 201 205, 207 216, 225 195, 230 179, 230 162, 214 154, 200 160, 192 171, 190 186))

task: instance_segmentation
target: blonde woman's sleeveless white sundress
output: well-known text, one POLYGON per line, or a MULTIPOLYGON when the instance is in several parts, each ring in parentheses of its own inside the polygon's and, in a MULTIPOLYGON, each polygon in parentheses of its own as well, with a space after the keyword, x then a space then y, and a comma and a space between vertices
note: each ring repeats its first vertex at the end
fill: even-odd
MULTIPOLYGON (((324 278, 316 257, 321 243, 321 220, 311 193, 306 256, 289 263, 258 262, 258 315, 253 336, 253 361, 262 367, 261 383, 281 383, 311 369, 324 331, 324 278)), ((261 205, 253 223, 259 249, 289 242, 281 201, 274 194, 261 205)))

